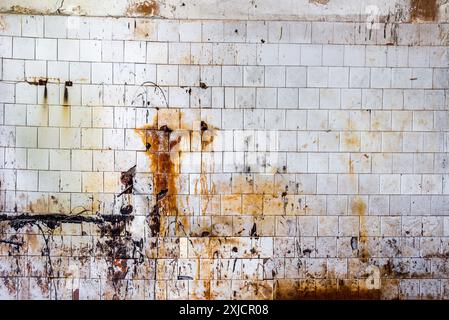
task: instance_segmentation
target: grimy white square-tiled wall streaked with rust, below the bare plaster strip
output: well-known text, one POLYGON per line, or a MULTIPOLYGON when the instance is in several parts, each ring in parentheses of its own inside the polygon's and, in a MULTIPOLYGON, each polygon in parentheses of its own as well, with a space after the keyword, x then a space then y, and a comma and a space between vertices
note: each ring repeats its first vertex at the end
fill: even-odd
POLYGON ((1 15, 0 298, 448 298, 448 31, 1 15))

